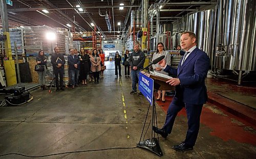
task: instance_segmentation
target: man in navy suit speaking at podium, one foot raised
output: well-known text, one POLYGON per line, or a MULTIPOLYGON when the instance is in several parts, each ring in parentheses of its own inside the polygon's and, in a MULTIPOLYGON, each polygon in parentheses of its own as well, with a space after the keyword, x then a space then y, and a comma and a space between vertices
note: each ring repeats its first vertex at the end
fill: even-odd
POLYGON ((175 97, 168 108, 164 126, 161 129, 153 127, 153 130, 166 138, 172 132, 178 112, 185 107, 188 119, 186 139, 180 145, 174 145, 173 148, 177 151, 187 151, 195 146, 202 107, 207 101, 205 78, 209 69, 209 57, 197 48, 196 35, 193 32, 183 32, 180 41, 186 53, 178 69, 166 65, 164 60, 159 62, 165 72, 176 75, 177 78, 166 81, 175 86, 175 97))

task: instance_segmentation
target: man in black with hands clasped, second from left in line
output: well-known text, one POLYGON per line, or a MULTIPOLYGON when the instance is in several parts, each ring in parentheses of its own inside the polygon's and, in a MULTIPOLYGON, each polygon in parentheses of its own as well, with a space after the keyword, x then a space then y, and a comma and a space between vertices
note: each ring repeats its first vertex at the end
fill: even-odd
POLYGON ((55 84, 56 84, 56 91, 59 91, 59 85, 61 90, 64 89, 63 85, 63 73, 64 73, 64 64, 66 63, 64 56, 60 53, 59 47, 54 48, 55 54, 52 54, 52 66, 53 66, 53 73, 55 75, 55 84), (58 83, 59 78, 59 83, 58 83))

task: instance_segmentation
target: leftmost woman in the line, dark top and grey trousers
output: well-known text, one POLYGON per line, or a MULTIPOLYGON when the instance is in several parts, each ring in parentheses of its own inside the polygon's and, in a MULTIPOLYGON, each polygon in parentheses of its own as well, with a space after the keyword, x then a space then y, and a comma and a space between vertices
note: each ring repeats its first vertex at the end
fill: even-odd
POLYGON ((46 71, 47 71, 47 60, 45 52, 40 50, 38 56, 36 57, 36 64, 38 68, 41 68, 41 71, 36 71, 38 74, 39 84, 41 85, 41 90, 46 89, 46 71))

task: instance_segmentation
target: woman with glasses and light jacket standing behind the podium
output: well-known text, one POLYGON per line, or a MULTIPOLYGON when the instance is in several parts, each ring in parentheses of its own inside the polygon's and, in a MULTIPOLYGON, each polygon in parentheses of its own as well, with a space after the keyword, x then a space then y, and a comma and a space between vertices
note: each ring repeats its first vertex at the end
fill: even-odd
MULTIPOLYGON (((168 65, 170 65, 170 54, 167 51, 164 50, 164 46, 163 46, 162 42, 159 42, 157 44, 157 52, 154 53, 152 61, 155 60, 156 58, 160 57, 160 56, 164 56, 164 60, 166 61, 166 63, 168 65)), ((158 73, 161 73, 161 74, 168 75, 168 73, 164 72, 162 67, 158 63, 153 64, 152 67, 154 69, 154 72, 158 72, 158 73)), ((165 90, 162 90, 162 91, 158 90, 158 97, 156 98, 156 101, 159 101, 162 98, 162 102, 164 103, 165 102, 164 95, 165 95, 165 90), (161 92, 162 92, 162 96, 161 96, 161 92)))

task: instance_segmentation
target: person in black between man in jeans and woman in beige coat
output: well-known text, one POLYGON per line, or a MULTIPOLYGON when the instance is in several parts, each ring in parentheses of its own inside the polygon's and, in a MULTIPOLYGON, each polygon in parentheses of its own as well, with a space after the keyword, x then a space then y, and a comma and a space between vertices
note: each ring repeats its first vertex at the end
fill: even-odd
POLYGON ((90 56, 81 48, 78 57, 80 59, 80 79, 82 84, 87 84, 87 74, 90 73, 90 56))

